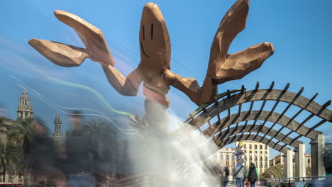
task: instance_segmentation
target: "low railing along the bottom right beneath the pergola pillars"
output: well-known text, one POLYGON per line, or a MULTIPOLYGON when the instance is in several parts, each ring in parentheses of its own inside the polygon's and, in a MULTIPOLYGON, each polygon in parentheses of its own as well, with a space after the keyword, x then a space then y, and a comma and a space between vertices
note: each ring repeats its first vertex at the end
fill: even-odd
POLYGON ((316 186, 332 186, 332 176, 306 176, 306 177, 290 177, 290 178, 265 178, 261 181, 262 185, 268 187, 292 187, 303 185, 304 187, 316 186))

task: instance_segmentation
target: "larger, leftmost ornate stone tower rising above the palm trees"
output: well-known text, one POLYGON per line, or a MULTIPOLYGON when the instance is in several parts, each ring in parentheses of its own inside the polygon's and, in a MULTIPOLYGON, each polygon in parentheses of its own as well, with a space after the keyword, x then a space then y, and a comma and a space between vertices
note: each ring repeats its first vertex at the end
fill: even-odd
POLYGON ((33 108, 30 105, 30 98, 28 98, 28 92, 23 91, 20 97, 20 103, 17 108, 17 119, 26 120, 33 118, 33 108))

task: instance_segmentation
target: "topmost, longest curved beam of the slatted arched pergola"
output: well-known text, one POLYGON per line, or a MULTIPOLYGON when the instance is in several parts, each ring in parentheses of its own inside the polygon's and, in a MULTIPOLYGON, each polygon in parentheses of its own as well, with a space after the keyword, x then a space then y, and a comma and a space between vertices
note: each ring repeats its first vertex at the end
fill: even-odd
POLYGON ((319 118, 322 118, 332 123, 332 111, 328 110, 328 108, 324 106, 319 105, 319 103, 316 103, 315 101, 311 101, 309 98, 300 96, 290 91, 261 89, 257 91, 247 91, 245 94, 235 94, 233 96, 224 98, 223 100, 218 101, 218 105, 206 108, 206 111, 204 113, 200 113, 199 115, 197 115, 197 117, 189 120, 189 124, 195 125, 197 128, 199 128, 208 120, 211 120, 216 115, 218 115, 218 113, 226 111, 227 108, 231 108, 233 106, 237 106, 239 104, 247 103, 250 101, 265 100, 292 103, 294 106, 304 108, 304 110, 308 111, 309 113, 313 113, 319 118))

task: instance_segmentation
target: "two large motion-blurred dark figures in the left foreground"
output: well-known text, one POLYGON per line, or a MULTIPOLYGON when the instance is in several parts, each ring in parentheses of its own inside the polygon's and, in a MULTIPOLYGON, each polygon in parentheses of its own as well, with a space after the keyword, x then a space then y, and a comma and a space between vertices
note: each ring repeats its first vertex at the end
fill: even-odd
POLYGON ((26 137, 23 149, 31 163, 35 184, 52 181, 55 186, 102 186, 97 183, 102 178, 95 168, 100 158, 89 127, 82 124, 82 116, 79 111, 70 115, 72 130, 67 134, 62 152, 48 136, 43 120, 33 120, 33 137, 26 137))

